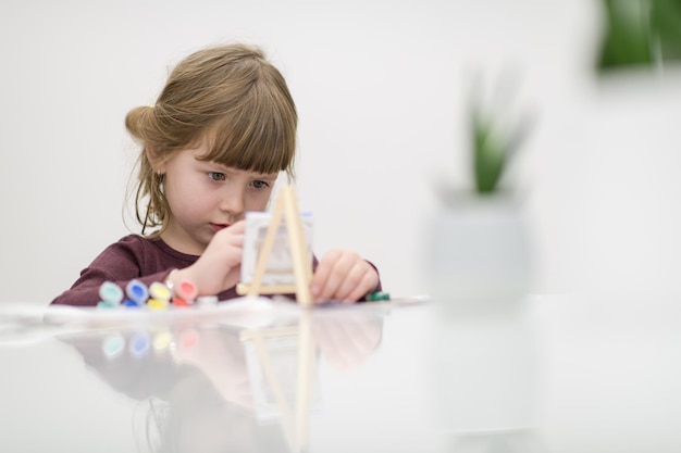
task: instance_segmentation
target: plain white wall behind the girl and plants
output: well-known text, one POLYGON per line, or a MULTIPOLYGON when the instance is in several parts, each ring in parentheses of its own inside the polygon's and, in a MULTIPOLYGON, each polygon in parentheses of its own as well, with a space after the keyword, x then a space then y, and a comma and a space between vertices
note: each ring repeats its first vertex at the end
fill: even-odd
MULTIPOLYGON (((393 294, 428 292, 433 185, 467 183, 471 70, 521 70, 538 123, 533 291, 677 293, 681 74, 596 80, 589 0, 4 0, 0 4, 0 301, 49 301, 127 232, 123 117, 205 45, 263 47, 296 99, 301 207, 315 250, 358 250, 393 294)), ((134 227, 134 225, 131 225, 134 227)))

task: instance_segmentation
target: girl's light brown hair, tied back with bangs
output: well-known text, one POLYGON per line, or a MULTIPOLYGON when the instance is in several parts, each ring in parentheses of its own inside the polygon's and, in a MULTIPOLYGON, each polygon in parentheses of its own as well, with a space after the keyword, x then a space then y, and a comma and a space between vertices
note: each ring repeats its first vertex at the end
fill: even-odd
POLYGON ((284 77, 259 48, 226 45, 187 56, 171 72, 156 105, 125 116, 127 131, 143 148, 135 194, 143 235, 147 227, 162 230, 170 214, 163 175, 153 172, 145 150, 168 162, 208 140, 206 161, 262 174, 286 172, 293 179, 297 123, 284 77))

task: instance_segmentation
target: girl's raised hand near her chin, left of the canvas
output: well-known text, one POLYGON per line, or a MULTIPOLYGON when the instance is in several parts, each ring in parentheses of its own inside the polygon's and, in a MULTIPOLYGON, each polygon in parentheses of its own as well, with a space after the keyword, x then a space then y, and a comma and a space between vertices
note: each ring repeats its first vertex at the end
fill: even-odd
POLYGON ((246 223, 240 221, 215 232, 197 262, 173 275, 173 282, 191 281, 199 295, 214 295, 238 284, 245 230, 246 223))

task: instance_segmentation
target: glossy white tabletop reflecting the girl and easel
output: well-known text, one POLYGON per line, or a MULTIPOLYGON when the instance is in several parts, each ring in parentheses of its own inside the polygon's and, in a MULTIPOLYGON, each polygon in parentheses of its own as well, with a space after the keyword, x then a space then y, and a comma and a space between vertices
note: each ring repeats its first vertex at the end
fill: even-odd
POLYGON ((677 452, 680 302, 273 303, 79 329, 10 328, 0 306, 0 451, 677 452))

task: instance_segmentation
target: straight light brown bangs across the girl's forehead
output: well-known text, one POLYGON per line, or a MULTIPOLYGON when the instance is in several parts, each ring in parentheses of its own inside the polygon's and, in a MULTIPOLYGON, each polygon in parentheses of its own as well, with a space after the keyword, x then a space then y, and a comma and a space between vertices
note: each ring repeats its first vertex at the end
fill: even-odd
POLYGON ((283 102, 271 97, 249 98, 210 126, 209 151, 201 160, 260 174, 286 172, 293 176, 295 112, 292 115, 283 102))

